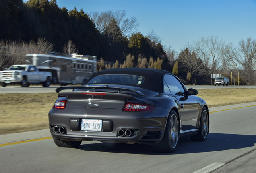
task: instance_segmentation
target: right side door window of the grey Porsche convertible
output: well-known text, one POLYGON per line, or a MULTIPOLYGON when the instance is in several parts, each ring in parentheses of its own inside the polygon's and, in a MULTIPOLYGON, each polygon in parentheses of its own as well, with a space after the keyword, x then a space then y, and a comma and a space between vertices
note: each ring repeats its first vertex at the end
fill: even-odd
POLYGON ((183 95, 185 93, 182 84, 173 76, 166 75, 164 80, 173 95, 183 95))

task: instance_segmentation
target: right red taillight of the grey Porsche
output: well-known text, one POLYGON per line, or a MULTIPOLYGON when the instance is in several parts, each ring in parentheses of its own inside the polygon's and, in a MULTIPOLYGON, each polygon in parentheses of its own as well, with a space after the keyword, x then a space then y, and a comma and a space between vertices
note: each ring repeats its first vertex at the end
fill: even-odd
POLYGON ((144 111, 154 111, 154 105, 144 104, 144 103, 126 103, 122 111, 128 112, 144 112, 144 111))

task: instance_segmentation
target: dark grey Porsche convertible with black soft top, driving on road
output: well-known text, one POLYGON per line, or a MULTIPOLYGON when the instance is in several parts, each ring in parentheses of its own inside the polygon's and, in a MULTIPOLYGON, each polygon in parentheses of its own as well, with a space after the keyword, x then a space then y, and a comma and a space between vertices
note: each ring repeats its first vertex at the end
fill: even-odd
POLYGON ((58 87, 56 92, 48 117, 59 147, 97 140, 150 144, 171 153, 180 137, 204 141, 209 133, 206 102, 165 70, 102 70, 81 86, 58 87))

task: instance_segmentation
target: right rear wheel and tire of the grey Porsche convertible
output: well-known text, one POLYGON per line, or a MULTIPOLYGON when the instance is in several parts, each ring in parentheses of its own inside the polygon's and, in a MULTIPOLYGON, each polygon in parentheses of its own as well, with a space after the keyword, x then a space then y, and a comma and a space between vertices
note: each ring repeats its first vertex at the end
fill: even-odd
POLYGON ((166 123, 162 141, 156 146, 157 151, 173 153, 178 146, 180 128, 177 113, 172 110, 166 123))

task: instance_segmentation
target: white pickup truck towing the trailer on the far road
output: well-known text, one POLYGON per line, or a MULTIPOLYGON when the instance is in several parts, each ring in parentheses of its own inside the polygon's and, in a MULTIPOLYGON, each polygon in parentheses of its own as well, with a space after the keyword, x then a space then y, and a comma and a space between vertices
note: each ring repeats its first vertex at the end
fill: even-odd
POLYGON ((51 80, 51 72, 40 72, 34 65, 13 65, 7 70, 0 71, 2 87, 7 84, 21 84, 21 87, 28 87, 29 84, 43 84, 43 87, 49 87, 51 80))

